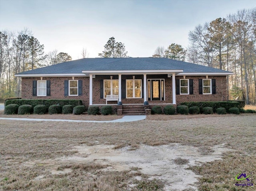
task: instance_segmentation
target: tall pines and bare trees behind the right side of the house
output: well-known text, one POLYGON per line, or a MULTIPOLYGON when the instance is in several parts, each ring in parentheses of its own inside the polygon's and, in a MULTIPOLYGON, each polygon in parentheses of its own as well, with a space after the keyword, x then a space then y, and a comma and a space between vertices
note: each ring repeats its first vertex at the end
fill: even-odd
POLYGON ((199 24, 188 33, 187 49, 172 43, 159 46, 153 57, 166 57, 232 71, 229 99, 256 104, 256 8, 199 24))

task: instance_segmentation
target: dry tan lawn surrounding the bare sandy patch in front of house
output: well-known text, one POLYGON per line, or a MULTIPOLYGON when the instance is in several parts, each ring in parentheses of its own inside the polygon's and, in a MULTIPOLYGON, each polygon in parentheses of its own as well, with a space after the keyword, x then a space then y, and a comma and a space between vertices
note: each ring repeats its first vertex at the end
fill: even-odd
POLYGON ((76 154, 74 147, 80 144, 136 149, 140 144, 169 143, 196 146, 206 154, 217 144, 234 149, 232 154, 224 154, 223 160, 192 169, 202 175, 199 190, 243 189, 234 186, 234 177, 244 169, 255 172, 255 121, 256 114, 159 115, 139 122, 102 124, 0 120, 0 190, 162 190, 164 182, 134 179, 138 172, 104 171, 106 166, 98 163, 63 165, 53 159, 76 154), (53 169, 71 171, 53 174, 53 169))

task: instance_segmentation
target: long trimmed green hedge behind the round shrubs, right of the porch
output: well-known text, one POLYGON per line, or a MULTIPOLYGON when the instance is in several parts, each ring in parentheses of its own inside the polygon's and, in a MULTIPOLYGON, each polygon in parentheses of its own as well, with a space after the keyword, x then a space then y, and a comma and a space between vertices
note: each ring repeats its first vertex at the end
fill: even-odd
MULTIPOLYGON (((203 107, 212 107, 213 112, 216 112, 217 108, 224 107, 226 110, 233 107, 242 107, 240 102, 234 101, 216 101, 216 102, 209 102, 209 101, 202 101, 202 102, 182 102, 180 105, 186 105, 188 107, 198 106, 200 111, 202 112, 203 107)), ((242 109, 242 108, 241 108, 242 109)))

